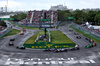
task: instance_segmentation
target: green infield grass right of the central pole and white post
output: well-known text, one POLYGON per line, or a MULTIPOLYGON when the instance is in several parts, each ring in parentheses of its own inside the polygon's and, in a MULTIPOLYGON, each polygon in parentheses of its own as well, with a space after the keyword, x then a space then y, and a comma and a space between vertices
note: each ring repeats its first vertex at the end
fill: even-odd
POLYGON ((61 31, 50 31, 51 43, 74 43, 61 31))

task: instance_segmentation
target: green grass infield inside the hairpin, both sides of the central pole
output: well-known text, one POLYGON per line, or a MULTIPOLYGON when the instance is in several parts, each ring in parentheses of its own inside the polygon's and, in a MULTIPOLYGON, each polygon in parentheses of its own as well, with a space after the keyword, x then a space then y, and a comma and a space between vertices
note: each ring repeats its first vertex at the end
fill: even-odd
MULTIPOLYGON (((51 43, 74 43, 61 31, 50 31, 51 33, 51 43)), ((44 35, 44 31, 38 31, 35 35, 30 37, 24 44, 34 44, 38 35, 44 35)))

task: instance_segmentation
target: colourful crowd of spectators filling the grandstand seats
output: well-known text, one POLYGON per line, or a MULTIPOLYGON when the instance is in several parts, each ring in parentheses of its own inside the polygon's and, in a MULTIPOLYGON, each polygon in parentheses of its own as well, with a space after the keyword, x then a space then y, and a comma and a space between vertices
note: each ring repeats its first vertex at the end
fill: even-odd
MULTIPOLYGON (((32 18, 32 23, 33 22, 41 22, 39 21, 39 19, 44 19, 44 13, 46 13, 46 19, 51 19, 52 16, 52 12, 53 12, 53 23, 57 22, 57 11, 46 11, 46 10, 42 10, 42 11, 29 11, 26 17, 26 22, 29 23, 30 19, 32 17, 32 13, 33 14, 33 18, 32 18)), ((23 21, 24 22, 24 21, 23 21)))

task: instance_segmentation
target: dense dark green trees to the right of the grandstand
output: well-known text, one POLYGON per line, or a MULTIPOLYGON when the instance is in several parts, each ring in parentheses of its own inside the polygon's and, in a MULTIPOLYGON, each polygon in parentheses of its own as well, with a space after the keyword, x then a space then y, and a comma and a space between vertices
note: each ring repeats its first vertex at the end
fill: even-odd
POLYGON ((90 22, 93 25, 100 25, 100 11, 75 10, 70 12, 69 10, 58 10, 58 21, 68 21, 67 17, 73 17, 73 21, 77 24, 90 22))

